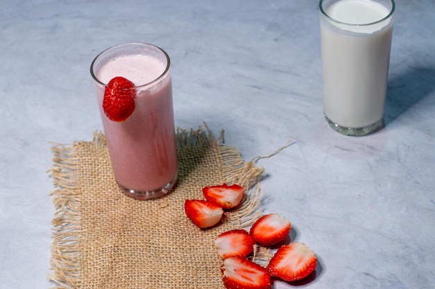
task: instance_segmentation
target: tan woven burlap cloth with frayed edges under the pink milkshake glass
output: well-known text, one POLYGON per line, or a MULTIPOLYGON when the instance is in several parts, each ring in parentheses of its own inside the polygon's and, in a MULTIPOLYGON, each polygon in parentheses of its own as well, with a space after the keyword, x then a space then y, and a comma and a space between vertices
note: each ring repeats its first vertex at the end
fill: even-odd
MULTIPOLYGON (((133 200, 120 191, 101 132, 52 151, 53 288, 224 288, 215 237, 247 229, 261 216, 264 170, 225 145, 222 132, 215 139, 208 128, 177 129, 179 179, 157 200, 133 200), (195 227, 184 201, 204 200, 202 187, 224 182, 244 187, 242 204, 216 227, 195 227)), ((256 254, 258 263, 270 257, 264 248, 256 254)))

